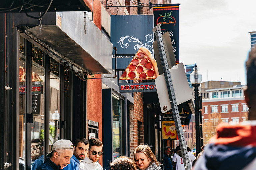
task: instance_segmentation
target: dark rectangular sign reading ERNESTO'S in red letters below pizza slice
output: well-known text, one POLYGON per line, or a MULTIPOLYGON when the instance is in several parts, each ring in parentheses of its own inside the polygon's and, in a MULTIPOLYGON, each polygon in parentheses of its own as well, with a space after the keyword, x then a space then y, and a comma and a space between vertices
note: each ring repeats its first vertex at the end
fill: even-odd
POLYGON ((156 92, 156 84, 149 83, 119 83, 119 92, 156 92))

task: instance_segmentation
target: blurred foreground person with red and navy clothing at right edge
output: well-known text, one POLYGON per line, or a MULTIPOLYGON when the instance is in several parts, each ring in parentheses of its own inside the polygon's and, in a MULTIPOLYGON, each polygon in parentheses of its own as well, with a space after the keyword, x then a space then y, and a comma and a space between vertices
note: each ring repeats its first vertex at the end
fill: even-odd
POLYGON ((194 170, 255 170, 256 167, 256 46, 251 48, 247 68, 245 101, 249 107, 248 119, 239 124, 222 123, 217 134, 209 140, 204 154, 194 170))

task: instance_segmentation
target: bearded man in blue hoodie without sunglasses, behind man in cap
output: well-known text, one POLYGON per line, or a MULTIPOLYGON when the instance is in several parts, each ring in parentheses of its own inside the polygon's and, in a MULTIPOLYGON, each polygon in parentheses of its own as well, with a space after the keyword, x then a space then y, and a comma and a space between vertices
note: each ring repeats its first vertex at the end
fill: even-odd
POLYGON ((80 137, 74 142, 74 153, 70 159, 70 164, 63 170, 79 170, 80 162, 87 156, 89 142, 87 139, 80 137))

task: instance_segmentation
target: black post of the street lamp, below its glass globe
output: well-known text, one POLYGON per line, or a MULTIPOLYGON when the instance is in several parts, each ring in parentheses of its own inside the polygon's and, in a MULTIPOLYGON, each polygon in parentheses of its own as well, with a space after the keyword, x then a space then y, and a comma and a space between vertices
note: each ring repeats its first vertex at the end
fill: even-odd
POLYGON ((200 125, 199 125, 199 89, 200 84, 193 84, 195 87, 195 116, 196 116, 196 156, 201 152, 200 125))

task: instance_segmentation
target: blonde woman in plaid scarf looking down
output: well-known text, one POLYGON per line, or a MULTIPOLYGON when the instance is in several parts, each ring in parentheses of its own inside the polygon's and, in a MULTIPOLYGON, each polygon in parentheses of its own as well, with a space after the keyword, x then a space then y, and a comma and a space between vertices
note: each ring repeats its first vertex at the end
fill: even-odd
POLYGON ((134 161, 140 170, 162 170, 155 155, 147 145, 139 145, 134 150, 134 161))

